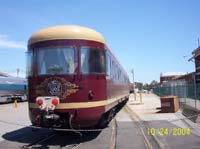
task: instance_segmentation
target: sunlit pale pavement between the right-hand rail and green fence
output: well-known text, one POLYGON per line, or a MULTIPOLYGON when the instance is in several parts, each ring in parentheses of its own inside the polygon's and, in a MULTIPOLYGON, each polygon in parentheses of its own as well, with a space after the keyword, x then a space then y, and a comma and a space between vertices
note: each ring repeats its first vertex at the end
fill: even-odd
POLYGON ((141 103, 139 94, 136 101, 131 94, 127 105, 143 122, 147 134, 152 128, 157 132, 153 137, 161 148, 199 148, 200 125, 187 119, 181 110, 176 113, 158 113, 159 110, 156 108, 161 107, 160 97, 154 94, 142 94, 141 103), (169 134, 163 134, 160 129, 169 130, 169 134), (189 129, 191 134, 177 134, 175 132, 177 129, 189 129))

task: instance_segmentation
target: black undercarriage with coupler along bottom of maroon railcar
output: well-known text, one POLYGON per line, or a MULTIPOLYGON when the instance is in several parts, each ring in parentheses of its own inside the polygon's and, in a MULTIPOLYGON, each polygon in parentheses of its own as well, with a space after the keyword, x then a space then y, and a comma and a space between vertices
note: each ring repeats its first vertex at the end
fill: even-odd
MULTIPOLYGON (((76 114, 70 113, 58 113, 54 110, 41 110, 41 113, 36 116, 36 121, 34 126, 45 127, 45 128, 55 128, 55 129, 80 129, 80 128, 105 128, 110 123, 110 121, 115 117, 115 115, 123 108, 128 99, 119 103, 106 113, 104 113, 98 123, 92 127, 81 127, 80 125, 74 123, 76 114)), ((76 112, 75 112, 76 113, 76 112)))

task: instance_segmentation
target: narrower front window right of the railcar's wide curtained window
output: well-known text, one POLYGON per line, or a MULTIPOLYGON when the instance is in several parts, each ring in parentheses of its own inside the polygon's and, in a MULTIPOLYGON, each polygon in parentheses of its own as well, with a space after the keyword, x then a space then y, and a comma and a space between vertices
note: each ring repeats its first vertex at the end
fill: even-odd
POLYGON ((105 51, 94 48, 81 48, 81 73, 106 73, 105 51))

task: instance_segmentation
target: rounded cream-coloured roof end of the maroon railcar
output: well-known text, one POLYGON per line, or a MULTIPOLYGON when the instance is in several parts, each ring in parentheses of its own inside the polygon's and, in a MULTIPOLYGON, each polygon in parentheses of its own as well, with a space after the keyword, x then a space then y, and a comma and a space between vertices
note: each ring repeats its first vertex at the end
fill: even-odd
POLYGON ((47 40, 82 39, 106 43, 104 37, 97 31, 81 26, 53 26, 35 32, 28 40, 28 45, 47 40))

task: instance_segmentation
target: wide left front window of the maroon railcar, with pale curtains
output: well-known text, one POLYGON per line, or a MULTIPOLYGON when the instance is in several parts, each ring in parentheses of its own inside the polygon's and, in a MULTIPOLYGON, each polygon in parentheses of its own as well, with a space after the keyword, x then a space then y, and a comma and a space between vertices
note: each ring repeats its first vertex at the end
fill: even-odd
POLYGON ((74 49, 49 47, 37 50, 38 75, 73 74, 75 71, 74 49))

